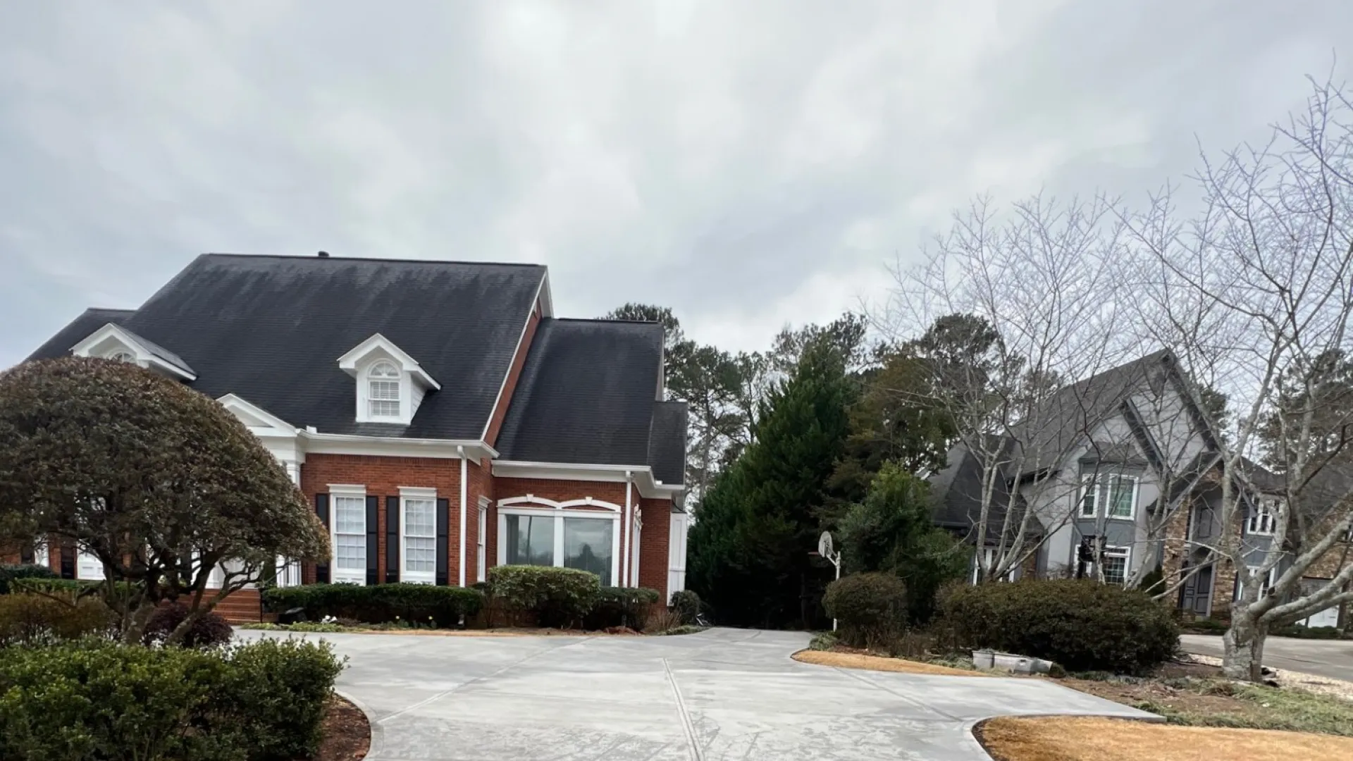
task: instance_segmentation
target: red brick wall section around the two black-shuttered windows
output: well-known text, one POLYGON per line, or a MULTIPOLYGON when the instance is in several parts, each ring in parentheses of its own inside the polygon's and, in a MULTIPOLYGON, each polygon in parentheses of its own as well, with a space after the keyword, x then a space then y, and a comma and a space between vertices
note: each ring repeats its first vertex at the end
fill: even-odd
MULTIPOLYGON (((386 580, 386 497, 398 497, 400 486, 421 486, 437 490, 438 498, 448 501, 446 573, 459 581, 460 557, 460 460, 438 458, 382 458, 369 455, 308 455, 300 466, 300 490, 314 509, 315 494, 327 494, 330 483, 364 485, 368 497, 380 498, 376 512, 376 580, 386 580)), ((330 505, 330 519, 333 505, 330 505)), ((468 519, 467 510, 467 519, 468 519)), ((467 569, 468 574, 468 569, 467 569)), ((302 569, 306 584, 315 581, 315 567, 302 569)))

